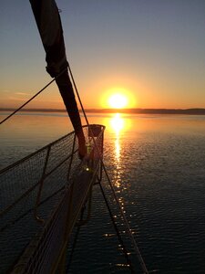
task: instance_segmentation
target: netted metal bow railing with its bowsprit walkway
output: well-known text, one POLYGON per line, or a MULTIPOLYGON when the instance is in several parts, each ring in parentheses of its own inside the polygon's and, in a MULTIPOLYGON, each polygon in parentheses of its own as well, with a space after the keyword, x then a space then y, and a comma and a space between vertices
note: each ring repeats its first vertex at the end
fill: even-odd
POLYGON ((83 161, 71 132, 0 172, 0 273, 56 271, 87 195, 101 179, 104 129, 84 127, 89 149, 83 161))

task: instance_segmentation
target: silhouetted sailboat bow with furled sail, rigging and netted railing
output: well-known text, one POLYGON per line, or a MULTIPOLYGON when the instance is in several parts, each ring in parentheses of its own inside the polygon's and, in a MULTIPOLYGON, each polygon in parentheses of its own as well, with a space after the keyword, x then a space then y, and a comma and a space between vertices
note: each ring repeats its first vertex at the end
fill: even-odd
MULTIPOLYGON (((46 70, 54 77, 51 82, 68 68, 87 121, 87 115, 67 62, 56 3, 54 0, 30 0, 30 3, 46 49, 48 63, 46 70), (55 27, 47 25, 46 17, 54 15, 58 25, 54 25, 55 27), (49 46, 50 42, 54 43, 52 50, 49 46), (50 50, 51 55, 57 57, 55 64, 49 59, 50 50)), ((69 84, 66 83, 66 85, 69 84)), ((30 100, 33 100, 46 87, 38 91, 30 100)), ((30 100, 0 123, 11 118, 30 100)), ((87 121, 87 125, 83 126, 83 132, 87 143, 87 153, 83 159, 78 157, 77 133, 74 131, 0 171, 0 245, 3 250, 1 259, 4 261, 0 266, 1 273, 65 273, 67 242, 73 228, 85 224, 89 218, 91 193, 95 184, 100 185, 109 215, 117 230, 119 241, 123 245, 108 199, 100 184, 102 173, 108 179, 112 199, 118 205, 119 215, 124 221, 125 231, 128 233, 139 265, 143 273, 148 273, 103 162, 105 126, 89 124, 87 121), (82 219, 80 214, 86 205, 87 217, 82 219)), ((128 258, 126 248, 123 250, 128 258)))

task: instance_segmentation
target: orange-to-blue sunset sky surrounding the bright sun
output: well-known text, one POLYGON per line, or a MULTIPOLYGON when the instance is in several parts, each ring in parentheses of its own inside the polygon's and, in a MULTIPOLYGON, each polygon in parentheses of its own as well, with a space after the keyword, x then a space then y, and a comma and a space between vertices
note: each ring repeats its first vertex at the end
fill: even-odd
MULTIPOLYGON (((204 0, 56 0, 85 108, 205 108, 204 0)), ((0 2, 0 108, 51 80, 29 1, 0 2)), ((53 83, 27 108, 64 109, 53 83)))

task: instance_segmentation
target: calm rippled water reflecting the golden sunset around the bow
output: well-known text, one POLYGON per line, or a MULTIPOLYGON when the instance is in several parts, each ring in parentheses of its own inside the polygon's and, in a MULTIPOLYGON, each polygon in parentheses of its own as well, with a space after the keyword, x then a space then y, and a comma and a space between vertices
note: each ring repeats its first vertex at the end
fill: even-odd
MULTIPOLYGON (((104 161, 149 272, 205 273, 205 116, 89 113, 88 120, 106 125, 104 161)), ((0 127, 0 168, 71 131, 64 113, 15 115, 0 127)), ((69 273, 129 273, 98 186, 92 207, 69 273)))

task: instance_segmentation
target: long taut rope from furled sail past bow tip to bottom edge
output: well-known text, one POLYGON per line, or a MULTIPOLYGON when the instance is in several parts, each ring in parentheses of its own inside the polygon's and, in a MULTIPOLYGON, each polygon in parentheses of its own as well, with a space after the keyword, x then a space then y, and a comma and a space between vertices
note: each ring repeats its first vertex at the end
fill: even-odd
MULTIPOLYGON (((79 92, 78 92, 78 90, 77 90, 77 85, 76 85, 75 79, 74 79, 74 77, 73 77, 73 73, 72 73, 72 71, 71 71, 71 68, 70 68, 69 63, 68 63, 68 71, 69 71, 69 73, 70 73, 70 77, 71 77, 71 79, 72 79, 74 88, 75 88, 75 90, 76 90, 77 99, 79 100, 81 110, 83 111, 85 120, 86 120, 86 122, 87 122, 87 127, 89 127, 89 122, 88 122, 88 120, 87 120, 87 114, 86 114, 86 111, 84 110, 82 101, 81 101, 81 99, 80 99, 79 92)), ((91 131, 91 135, 92 135, 92 131, 91 131)), ((94 145, 95 145, 95 147, 96 147, 96 149, 97 149, 97 153, 98 153, 99 155, 101 155, 101 153, 98 151, 97 143, 96 143, 96 140, 95 140, 94 136, 92 135, 91 137, 92 137, 93 142, 94 142, 94 145)), ((139 261, 139 263, 140 263, 141 269, 143 270, 143 272, 144 272, 145 274, 149 274, 149 271, 148 271, 148 269, 147 269, 147 267, 146 267, 146 264, 145 264, 145 262, 144 262, 144 260, 143 260, 143 258, 142 258, 142 256, 141 256, 141 253, 140 253, 140 251, 139 251, 137 242, 136 242, 136 240, 135 240, 135 238, 134 238, 134 236, 133 236, 133 234, 132 234, 132 232, 131 232, 131 229, 130 229, 130 227, 129 227, 129 225, 128 225, 128 219, 127 219, 127 217, 125 216, 125 213, 124 213, 124 211, 123 211, 123 209, 122 209, 122 207, 121 207, 121 205, 120 205, 120 203, 119 203, 119 201, 118 201, 118 196, 116 195, 115 189, 114 189, 114 187, 113 187, 113 185, 112 185, 112 183, 111 183, 111 180, 110 180, 110 178, 109 178, 108 171, 107 171, 106 166, 105 166, 105 164, 104 164, 104 162, 103 162, 103 160, 102 160, 101 157, 100 157, 100 162, 101 162, 102 167, 103 167, 103 170, 104 170, 104 172, 105 172, 105 174, 106 174, 106 176, 107 176, 108 184, 110 185, 110 188, 111 188, 111 190, 112 190, 112 192, 113 192, 113 195, 114 195, 114 197, 115 197, 115 200, 116 200, 116 202, 117 202, 117 204, 118 204, 118 207, 119 207, 121 216, 123 217, 123 220, 124 220, 125 225, 126 225, 126 227, 127 227, 128 235, 129 235, 129 237, 130 237, 130 239, 131 239, 131 241, 132 241, 133 247, 134 247, 134 249, 135 249, 135 251, 136 251, 136 254, 137 254, 137 256, 138 256, 138 261, 139 261)))

